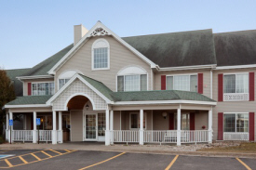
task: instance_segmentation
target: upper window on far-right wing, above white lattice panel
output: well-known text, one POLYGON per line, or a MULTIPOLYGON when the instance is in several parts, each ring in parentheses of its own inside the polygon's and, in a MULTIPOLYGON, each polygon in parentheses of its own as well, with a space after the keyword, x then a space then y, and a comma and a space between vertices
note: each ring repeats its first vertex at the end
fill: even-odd
POLYGON ((224 75, 224 93, 249 93, 249 74, 224 75))

